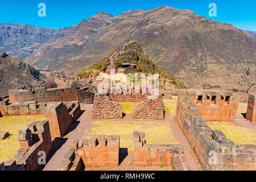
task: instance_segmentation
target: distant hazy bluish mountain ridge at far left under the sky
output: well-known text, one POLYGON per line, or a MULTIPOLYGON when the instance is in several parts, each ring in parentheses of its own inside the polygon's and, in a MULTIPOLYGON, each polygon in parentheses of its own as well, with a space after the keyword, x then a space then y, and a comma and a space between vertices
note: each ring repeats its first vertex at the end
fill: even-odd
POLYGON ((0 51, 24 59, 31 52, 62 38, 71 27, 39 28, 29 24, 0 23, 0 51))

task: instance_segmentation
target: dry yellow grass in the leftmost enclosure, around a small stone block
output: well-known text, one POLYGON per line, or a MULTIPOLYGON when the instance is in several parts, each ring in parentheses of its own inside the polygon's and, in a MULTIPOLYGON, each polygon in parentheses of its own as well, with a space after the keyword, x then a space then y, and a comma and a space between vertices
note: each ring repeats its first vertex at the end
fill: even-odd
POLYGON ((24 116, 24 117, 3 117, 0 118, 0 131, 8 131, 10 136, 0 140, 0 162, 12 160, 19 149, 18 130, 32 123, 33 121, 43 121, 44 116, 24 116))

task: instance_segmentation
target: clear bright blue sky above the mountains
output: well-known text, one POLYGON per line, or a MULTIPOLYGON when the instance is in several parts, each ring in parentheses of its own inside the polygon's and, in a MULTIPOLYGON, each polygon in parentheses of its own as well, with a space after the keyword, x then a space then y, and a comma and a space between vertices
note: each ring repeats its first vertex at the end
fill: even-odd
POLYGON ((122 12, 142 9, 151 10, 158 6, 189 9, 196 14, 217 22, 231 23, 243 30, 256 31, 256 1, 188 1, 188 0, 11 0, 1 1, 0 23, 31 24, 37 27, 62 28, 79 23, 82 19, 105 11, 114 16, 122 12), (46 17, 38 16, 38 4, 46 4, 46 17), (209 3, 216 3, 217 17, 210 17, 209 3))

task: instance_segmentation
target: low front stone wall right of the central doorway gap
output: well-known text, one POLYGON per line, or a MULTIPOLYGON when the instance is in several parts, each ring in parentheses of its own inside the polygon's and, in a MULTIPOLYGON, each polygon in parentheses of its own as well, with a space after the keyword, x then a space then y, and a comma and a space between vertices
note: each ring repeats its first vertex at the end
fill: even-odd
POLYGON ((134 160, 138 166, 173 166, 177 171, 191 170, 179 144, 147 144, 144 132, 134 131, 134 160))

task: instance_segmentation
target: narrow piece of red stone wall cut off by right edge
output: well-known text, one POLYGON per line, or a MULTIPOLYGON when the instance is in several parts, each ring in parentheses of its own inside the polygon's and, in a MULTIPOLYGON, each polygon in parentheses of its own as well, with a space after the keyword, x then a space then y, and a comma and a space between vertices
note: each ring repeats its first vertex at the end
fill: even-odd
POLYGON ((255 96, 256 96, 256 93, 250 93, 248 98, 246 119, 248 119, 250 122, 256 122, 255 96))

